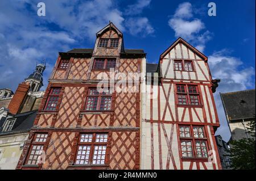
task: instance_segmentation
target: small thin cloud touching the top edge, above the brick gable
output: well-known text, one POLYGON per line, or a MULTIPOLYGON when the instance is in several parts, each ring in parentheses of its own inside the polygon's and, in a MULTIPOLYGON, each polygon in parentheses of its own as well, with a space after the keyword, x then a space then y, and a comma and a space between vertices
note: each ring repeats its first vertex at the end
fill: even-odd
POLYGON ((129 5, 125 10, 127 15, 137 15, 141 14, 145 7, 150 5, 151 0, 138 0, 134 5, 129 5))

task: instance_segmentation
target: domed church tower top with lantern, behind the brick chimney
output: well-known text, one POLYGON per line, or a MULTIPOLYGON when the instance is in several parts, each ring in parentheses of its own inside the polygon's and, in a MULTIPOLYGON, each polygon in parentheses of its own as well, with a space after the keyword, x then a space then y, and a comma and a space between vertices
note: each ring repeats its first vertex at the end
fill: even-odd
POLYGON ((30 91, 37 92, 43 86, 43 71, 46 69, 46 62, 36 65, 35 71, 25 78, 25 82, 29 83, 30 91))

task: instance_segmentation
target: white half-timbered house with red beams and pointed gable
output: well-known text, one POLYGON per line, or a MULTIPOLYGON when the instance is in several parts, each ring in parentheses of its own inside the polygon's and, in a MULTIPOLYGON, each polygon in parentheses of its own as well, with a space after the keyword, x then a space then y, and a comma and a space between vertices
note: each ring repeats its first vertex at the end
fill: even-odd
POLYGON ((219 80, 207 61, 181 38, 160 55, 160 81, 147 81, 142 98, 142 169, 221 169, 213 99, 219 80))

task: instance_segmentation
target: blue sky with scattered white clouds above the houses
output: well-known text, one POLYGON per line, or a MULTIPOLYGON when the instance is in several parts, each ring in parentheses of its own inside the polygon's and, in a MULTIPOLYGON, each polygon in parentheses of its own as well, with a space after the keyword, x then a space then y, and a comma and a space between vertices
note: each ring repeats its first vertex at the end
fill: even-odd
POLYGON ((15 91, 18 83, 47 60, 44 87, 57 53, 93 48, 95 33, 111 20, 123 32, 125 48, 144 49, 148 62, 181 36, 209 58, 221 119, 219 133, 228 140, 228 127, 219 92, 255 87, 255 1, 213 1, 217 16, 208 16, 212 1, 0 1, 0 88, 15 91), (46 16, 37 15, 38 2, 46 16))

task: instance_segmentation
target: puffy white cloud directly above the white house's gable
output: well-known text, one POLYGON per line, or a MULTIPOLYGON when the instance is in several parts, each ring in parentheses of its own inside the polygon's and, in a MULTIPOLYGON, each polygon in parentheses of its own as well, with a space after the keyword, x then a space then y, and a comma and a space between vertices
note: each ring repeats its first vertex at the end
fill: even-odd
POLYGON ((205 24, 200 19, 193 18, 195 10, 192 9, 191 3, 181 3, 172 18, 168 20, 168 25, 174 30, 176 37, 183 37, 203 52, 205 44, 213 35, 208 30, 201 32, 205 29, 205 24))

